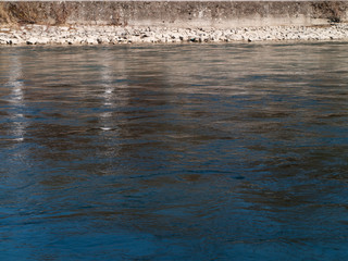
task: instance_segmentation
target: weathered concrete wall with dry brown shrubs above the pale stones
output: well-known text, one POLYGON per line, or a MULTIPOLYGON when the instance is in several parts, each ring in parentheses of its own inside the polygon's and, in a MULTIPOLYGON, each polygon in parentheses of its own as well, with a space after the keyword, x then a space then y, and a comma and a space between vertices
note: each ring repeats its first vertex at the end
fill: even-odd
POLYGON ((0 2, 1 24, 231 28, 347 21, 347 1, 0 2))

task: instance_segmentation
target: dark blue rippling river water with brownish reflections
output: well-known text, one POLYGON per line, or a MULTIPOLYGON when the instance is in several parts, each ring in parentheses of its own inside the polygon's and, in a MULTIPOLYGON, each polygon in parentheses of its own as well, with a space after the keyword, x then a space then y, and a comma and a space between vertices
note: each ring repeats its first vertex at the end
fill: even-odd
POLYGON ((348 260, 343 42, 0 48, 0 260, 348 260))

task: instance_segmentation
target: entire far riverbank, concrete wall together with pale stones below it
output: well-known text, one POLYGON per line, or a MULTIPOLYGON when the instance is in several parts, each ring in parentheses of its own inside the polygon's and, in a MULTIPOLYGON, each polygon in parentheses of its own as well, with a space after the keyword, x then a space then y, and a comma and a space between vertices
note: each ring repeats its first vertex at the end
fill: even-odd
POLYGON ((2 1, 0 45, 348 39, 347 1, 2 1))

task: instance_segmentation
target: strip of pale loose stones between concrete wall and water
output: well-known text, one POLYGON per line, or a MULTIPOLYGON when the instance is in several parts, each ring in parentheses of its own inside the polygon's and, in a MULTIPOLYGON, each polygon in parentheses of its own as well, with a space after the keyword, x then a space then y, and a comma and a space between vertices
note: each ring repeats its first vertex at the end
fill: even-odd
POLYGON ((266 26, 231 29, 46 25, 0 28, 0 45, 115 45, 346 39, 348 39, 348 24, 335 24, 325 27, 266 26))

